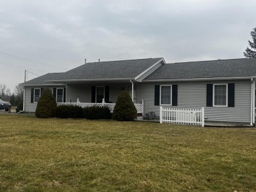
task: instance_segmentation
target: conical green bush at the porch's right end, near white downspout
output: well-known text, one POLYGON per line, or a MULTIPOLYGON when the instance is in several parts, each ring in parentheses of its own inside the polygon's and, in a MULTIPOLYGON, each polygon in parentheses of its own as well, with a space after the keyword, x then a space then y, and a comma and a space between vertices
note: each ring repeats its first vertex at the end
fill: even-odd
POLYGON ((137 109, 127 91, 119 94, 112 118, 117 121, 133 121, 137 117, 137 109))

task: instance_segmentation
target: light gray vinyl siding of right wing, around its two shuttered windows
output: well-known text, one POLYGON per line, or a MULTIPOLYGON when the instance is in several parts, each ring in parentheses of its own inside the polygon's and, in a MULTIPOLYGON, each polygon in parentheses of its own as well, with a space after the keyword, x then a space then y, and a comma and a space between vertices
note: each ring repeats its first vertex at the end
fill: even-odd
MULTIPOLYGON (((186 82, 172 83, 178 85, 177 107, 205 107, 205 121, 250 122, 251 83, 250 81, 220 82, 186 82), (235 107, 206 107, 207 83, 234 83, 235 107)), ((140 85, 140 100, 144 100, 144 113, 154 111, 160 115, 160 106, 154 106, 155 85, 171 85, 171 83, 146 83, 140 85)))

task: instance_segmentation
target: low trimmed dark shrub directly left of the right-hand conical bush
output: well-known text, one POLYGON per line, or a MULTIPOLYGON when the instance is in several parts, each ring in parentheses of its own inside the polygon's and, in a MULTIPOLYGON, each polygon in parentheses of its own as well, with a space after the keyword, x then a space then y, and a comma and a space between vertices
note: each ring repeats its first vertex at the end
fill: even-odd
POLYGON ((112 115, 108 107, 85 107, 83 108, 85 119, 111 119, 112 115))

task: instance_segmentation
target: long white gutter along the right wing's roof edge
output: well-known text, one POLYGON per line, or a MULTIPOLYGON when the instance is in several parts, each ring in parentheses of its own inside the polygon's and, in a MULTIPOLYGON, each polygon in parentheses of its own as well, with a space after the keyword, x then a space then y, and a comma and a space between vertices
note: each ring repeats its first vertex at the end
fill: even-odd
POLYGON ((251 77, 207 77, 207 78, 192 78, 192 79, 150 79, 142 80, 142 82, 177 82, 177 81, 224 81, 224 80, 246 80, 255 79, 256 76, 251 77))

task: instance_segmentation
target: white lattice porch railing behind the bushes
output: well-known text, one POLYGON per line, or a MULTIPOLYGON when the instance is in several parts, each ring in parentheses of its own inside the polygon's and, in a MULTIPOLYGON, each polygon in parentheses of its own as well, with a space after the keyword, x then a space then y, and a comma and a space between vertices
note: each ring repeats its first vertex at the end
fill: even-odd
MULTIPOLYGON (((137 109, 137 113, 142 113, 142 115, 144 115, 144 101, 142 100, 141 104, 134 104, 136 109, 137 109)), ((110 109, 110 112, 113 113, 114 111, 114 107, 116 106, 116 104, 107 104, 104 102, 104 99, 102 100, 102 103, 80 103, 79 99, 77 99, 77 102, 75 103, 57 103, 57 106, 80 106, 80 107, 93 107, 93 106, 97 106, 97 107, 108 107, 108 109, 110 109)))

